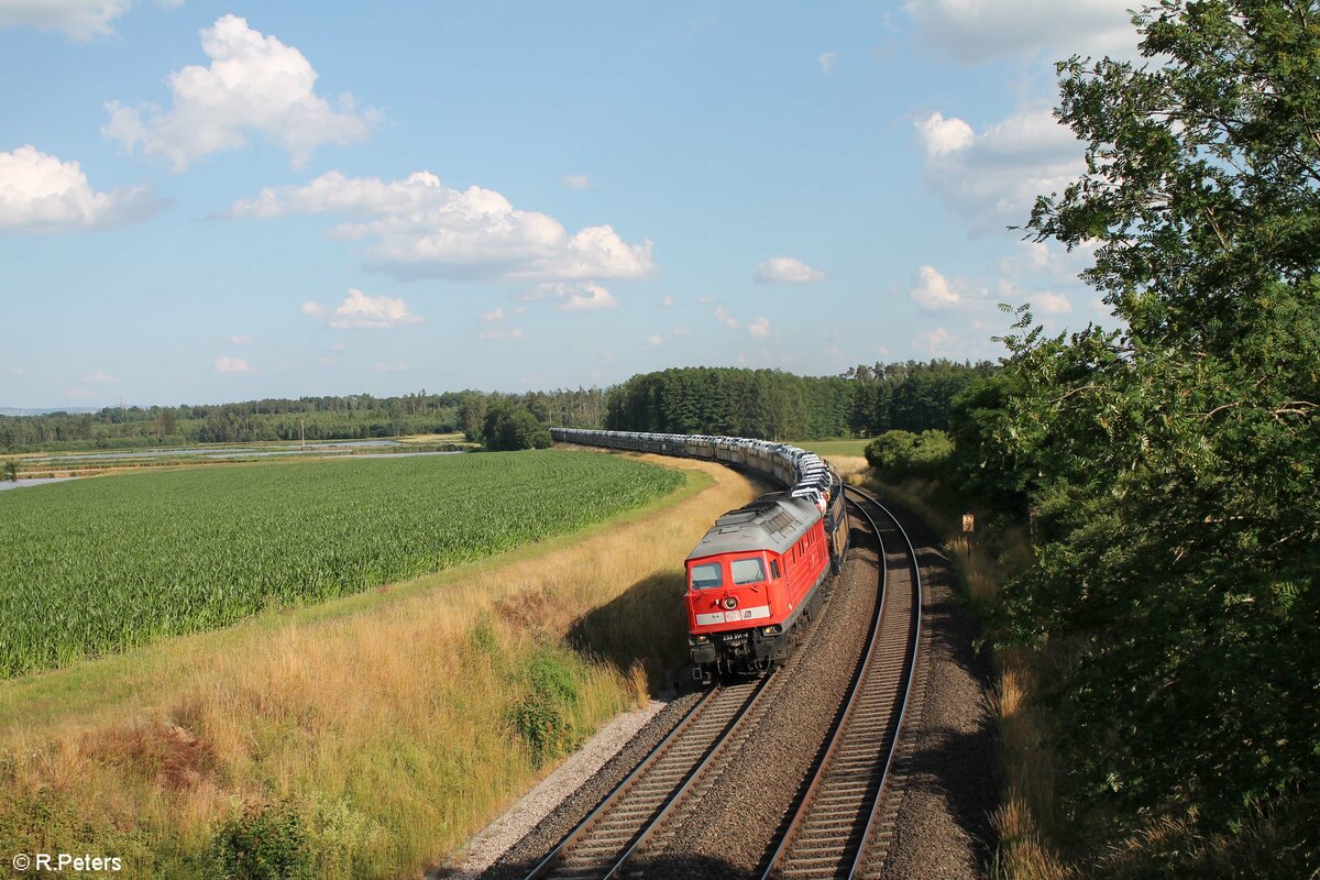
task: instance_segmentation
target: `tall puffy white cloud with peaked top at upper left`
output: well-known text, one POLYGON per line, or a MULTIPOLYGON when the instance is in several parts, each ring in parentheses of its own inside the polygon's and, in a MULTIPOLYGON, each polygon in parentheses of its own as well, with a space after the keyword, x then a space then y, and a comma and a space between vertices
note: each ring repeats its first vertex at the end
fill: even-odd
POLYGON ((253 30, 246 18, 227 15, 203 28, 202 50, 209 67, 190 65, 169 75, 168 111, 108 102, 102 135, 129 152, 140 145, 148 156, 162 156, 176 170, 239 149, 253 132, 288 150, 296 166, 321 144, 367 137, 371 111, 359 113, 348 95, 333 110, 315 94, 317 71, 302 53, 253 30))

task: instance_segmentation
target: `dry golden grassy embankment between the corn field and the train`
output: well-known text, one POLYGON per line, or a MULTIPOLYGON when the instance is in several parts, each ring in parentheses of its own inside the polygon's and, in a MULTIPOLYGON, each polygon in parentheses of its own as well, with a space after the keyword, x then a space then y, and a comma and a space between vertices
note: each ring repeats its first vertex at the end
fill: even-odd
POLYGON ((681 656, 677 561, 758 488, 680 466, 609 524, 0 683, 0 847, 416 876, 681 656))

